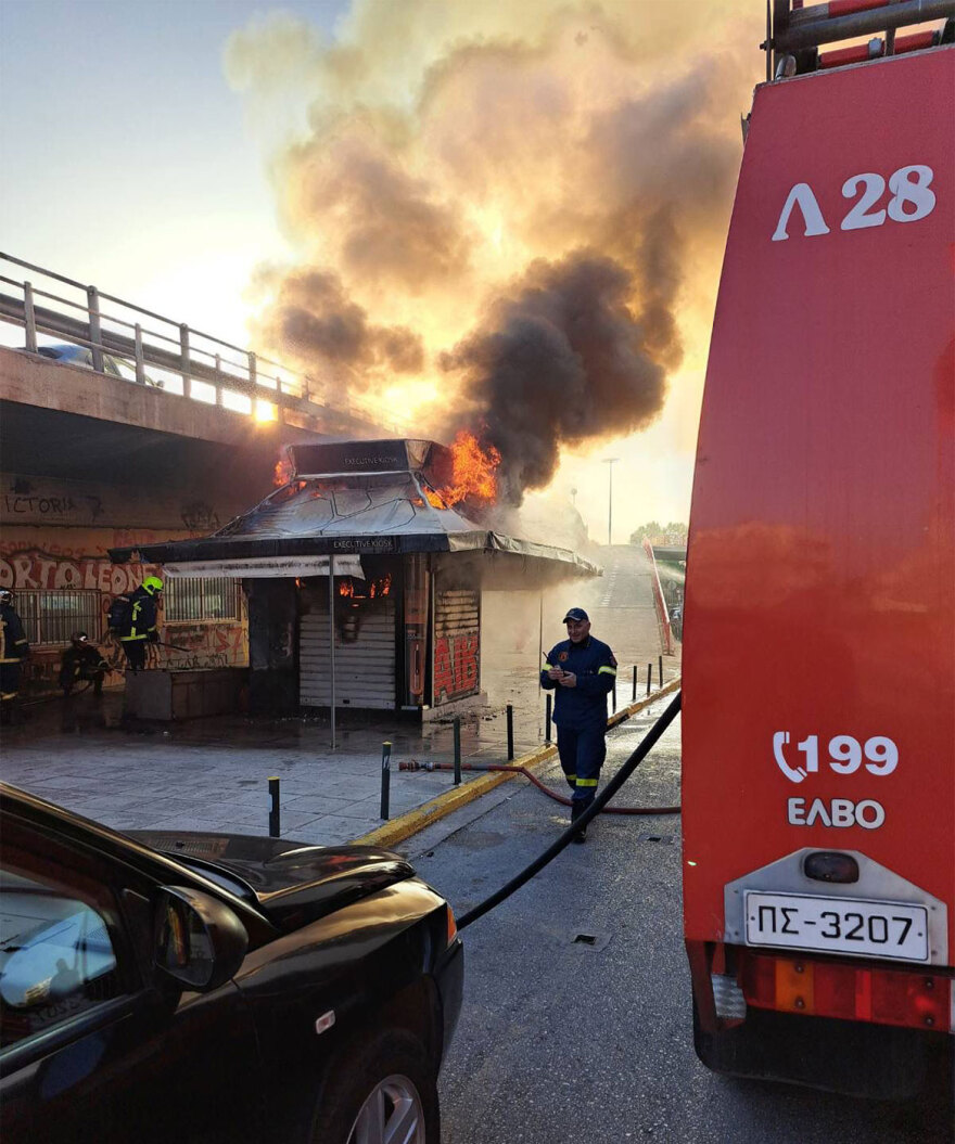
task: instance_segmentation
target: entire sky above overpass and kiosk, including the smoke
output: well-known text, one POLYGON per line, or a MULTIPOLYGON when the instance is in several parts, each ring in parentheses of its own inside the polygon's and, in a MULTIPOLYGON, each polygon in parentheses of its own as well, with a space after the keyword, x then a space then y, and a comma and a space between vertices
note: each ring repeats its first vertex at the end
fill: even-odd
POLYGON ((574 490, 600 541, 618 458, 623 542, 687 519, 763 18, 758 0, 2 0, 0 249, 435 434, 519 426, 531 501, 574 490), (597 348, 565 328, 587 292, 597 348), (544 318, 560 344, 535 388, 514 359, 544 318))

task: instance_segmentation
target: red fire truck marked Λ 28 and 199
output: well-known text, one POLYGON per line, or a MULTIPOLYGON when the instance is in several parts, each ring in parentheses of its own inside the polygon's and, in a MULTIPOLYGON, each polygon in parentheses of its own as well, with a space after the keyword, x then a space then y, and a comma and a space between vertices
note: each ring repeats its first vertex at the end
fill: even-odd
POLYGON ((955 3, 773 17, 687 559, 695 1042, 903 1096, 955 1030, 955 3))

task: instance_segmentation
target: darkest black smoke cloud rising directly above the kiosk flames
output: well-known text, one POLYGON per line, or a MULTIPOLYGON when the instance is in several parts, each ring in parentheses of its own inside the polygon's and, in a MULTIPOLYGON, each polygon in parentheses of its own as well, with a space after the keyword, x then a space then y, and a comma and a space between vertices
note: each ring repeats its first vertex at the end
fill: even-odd
POLYGON ((536 262, 487 327, 444 355, 445 370, 464 372, 471 428, 500 452, 512 503, 550 484, 561 443, 624 436, 662 408, 676 325, 658 296, 634 315, 633 288, 626 268, 592 251, 536 262))

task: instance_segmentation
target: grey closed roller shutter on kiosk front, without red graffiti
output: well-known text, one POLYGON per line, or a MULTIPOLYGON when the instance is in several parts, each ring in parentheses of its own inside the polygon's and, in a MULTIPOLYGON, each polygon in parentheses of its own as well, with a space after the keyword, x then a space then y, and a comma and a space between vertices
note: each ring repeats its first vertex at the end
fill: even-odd
MULTIPOLYGON (((326 605, 327 607, 327 605, 326 605)), ((334 642, 336 707, 392 710, 395 689, 395 604, 368 599, 338 617, 334 642)), ((329 613, 315 609, 299 626, 299 701, 327 707, 330 701, 329 613)))

